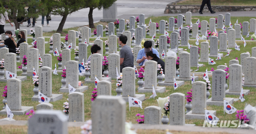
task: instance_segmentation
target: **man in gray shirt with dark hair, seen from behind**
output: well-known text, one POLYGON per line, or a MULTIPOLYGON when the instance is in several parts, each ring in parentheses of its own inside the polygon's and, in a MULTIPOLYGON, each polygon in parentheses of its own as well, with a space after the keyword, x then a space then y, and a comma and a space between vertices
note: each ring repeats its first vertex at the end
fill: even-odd
POLYGON ((120 50, 120 72, 122 73, 122 69, 125 67, 133 67, 133 53, 129 46, 126 45, 127 37, 125 35, 121 35, 119 37, 119 45, 122 46, 120 50))

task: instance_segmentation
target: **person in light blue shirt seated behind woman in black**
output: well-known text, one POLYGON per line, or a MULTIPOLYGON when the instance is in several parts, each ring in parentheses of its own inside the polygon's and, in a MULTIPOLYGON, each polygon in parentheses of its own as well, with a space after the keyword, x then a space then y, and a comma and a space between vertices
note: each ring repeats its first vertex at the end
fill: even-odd
POLYGON ((139 50, 137 59, 136 59, 137 63, 139 63, 139 66, 137 66, 137 69, 145 65, 145 62, 148 61, 146 58, 146 52, 152 51, 153 54, 156 54, 156 56, 159 57, 158 51, 152 48, 152 45, 153 44, 151 43, 151 41, 145 41, 144 48, 139 50))

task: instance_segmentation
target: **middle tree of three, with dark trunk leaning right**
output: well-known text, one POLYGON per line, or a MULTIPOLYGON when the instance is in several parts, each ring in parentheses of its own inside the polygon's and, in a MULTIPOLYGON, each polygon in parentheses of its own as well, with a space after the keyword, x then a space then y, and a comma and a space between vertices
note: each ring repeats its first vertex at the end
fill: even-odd
POLYGON ((76 12, 80 9, 87 8, 87 4, 93 0, 47 0, 47 5, 52 6, 52 15, 62 16, 57 33, 62 33, 66 18, 70 13, 76 12))

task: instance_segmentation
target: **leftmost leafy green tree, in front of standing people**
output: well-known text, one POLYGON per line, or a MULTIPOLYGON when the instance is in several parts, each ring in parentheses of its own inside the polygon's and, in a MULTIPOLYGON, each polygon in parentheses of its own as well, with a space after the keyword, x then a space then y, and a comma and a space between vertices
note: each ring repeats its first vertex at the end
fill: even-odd
POLYGON ((20 24, 27 19, 38 18, 42 12, 46 12, 46 5, 38 0, 1 0, 0 5, 8 6, 8 17, 14 21, 15 29, 20 29, 20 24), (25 7, 30 7, 30 11, 28 12, 25 7), (23 18, 23 20, 18 22, 17 18, 23 18))

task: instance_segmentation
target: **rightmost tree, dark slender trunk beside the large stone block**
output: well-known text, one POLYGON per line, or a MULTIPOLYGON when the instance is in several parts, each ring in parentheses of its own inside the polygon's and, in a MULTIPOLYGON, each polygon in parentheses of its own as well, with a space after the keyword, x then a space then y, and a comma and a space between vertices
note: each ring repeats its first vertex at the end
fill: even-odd
POLYGON ((89 27, 90 28, 95 28, 94 26, 94 21, 93 21, 93 17, 92 17, 92 12, 94 9, 98 8, 98 10, 101 10, 101 8, 103 7, 104 9, 107 9, 108 7, 110 7, 115 1, 117 0, 94 0, 94 2, 92 2, 90 5, 88 5, 88 7, 90 7, 90 11, 88 14, 88 18, 89 18, 89 27))

